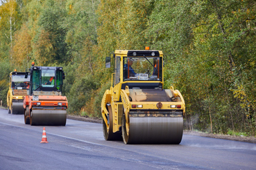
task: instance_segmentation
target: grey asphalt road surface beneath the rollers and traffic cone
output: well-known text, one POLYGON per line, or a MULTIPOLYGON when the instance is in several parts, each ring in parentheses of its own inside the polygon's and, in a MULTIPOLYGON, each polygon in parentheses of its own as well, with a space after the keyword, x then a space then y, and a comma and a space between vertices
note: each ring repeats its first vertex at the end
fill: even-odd
POLYGON ((105 141, 102 124, 24 124, 0 109, 0 169, 256 169, 256 144, 183 135, 178 145, 105 141))

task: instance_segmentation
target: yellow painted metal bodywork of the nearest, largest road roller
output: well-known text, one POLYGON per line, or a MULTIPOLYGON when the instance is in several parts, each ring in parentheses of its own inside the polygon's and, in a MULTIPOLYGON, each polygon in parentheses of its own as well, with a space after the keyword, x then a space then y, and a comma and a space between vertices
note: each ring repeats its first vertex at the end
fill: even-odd
MULTIPOLYGON (((120 57, 121 61, 121 66, 120 66, 120 70, 123 70, 123 57, 127 57, 127 53, 128 50, 115 50, 114 51, 114 55, 120 57)), ((163 53, 160 50, 160 57, 163 57, 163 53)), ((163 65, 162 65, 162 68, 163 65)), ((162 77, 164 77, 164 70, 162 71, 162 77)), ((108 116, 108 108, 107 108, 107 104, 110 104, 112 107, 112 132, 115 133, 117 131, 119 131, 119 127, 121 126, 119 122, 119 117, 120 115, 125 115, 126 117, 126 130, 128 133, 128 129, 129 129, 129 111, 130 108, 132 106, 132 104, 143 104, 143 108, 145 109, 158 109, 157 108, 157 103, 158 102, 130 102, 129 100, 129 87, 126 86, 126 89, 123 90, 121 89, 122 84, 126 83, 123 82, 123 72, 120 71, 120 82, 118 84, 113 84, 114 82, 114 73, 112 73, 112 77, 111 77, 111 87, 110 90, 105 91, 104 95, 103 95, 103 99, 101 102, 101 114, 103 117, 103 121, 105 122, 107 129, 109 129, 109 125, 108 125, 108 120, 107 120, 107 116, 108 116), (119 101, 121 97, 121 102, 119 101), (122 109, 122 113, 119 113, 119 111, 121 110, 119 108, 119 104, 123 105, 123 109, 122 109)), ((136 83, 139 81, 127 81, 130 83, 136 83)), ((146 83, 161 83, 164 84, 164 80, 162 81, 148 81, 146 83)), ((185 113, 185 100, 183 99, 180 91, 178 90, 174 90, 173 86, 170 87, 170 90, 173 92, 174 95, 177 95, 177 97, 180 97, 181 102, 162 102, 162 108, 161 109, 171 109, 170 105, 171 104, 179 104, 181 105, 181 109, 183 111, 183 114, 185 113)), ((161 102, 161 101, 160 101, 161 102)))

